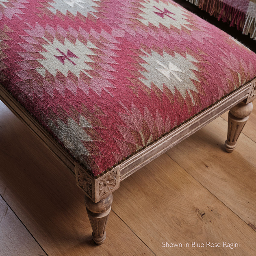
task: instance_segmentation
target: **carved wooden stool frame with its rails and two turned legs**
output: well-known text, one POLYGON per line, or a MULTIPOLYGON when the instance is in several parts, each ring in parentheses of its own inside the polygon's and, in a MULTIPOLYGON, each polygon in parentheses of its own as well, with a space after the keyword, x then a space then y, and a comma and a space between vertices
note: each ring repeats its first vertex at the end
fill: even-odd
POLYGON ((256 78, 176 126, 143 150, 135 152, 134 155, 120 161, 118 165, 107 169, 97 177, 93 177, 0 85, 0 100, 35 133, 52 154, 76 177, 76 184, 85 193, 85 204, 93 229, 93 240, 99 245, 106 239, 105 228, 111 211, 112 193, 119 188, 122 180, 228 110, 230 111, 225 148, 227 152, 232 152, 249 114, 252 112, 252 101, 255 98, 256 78))

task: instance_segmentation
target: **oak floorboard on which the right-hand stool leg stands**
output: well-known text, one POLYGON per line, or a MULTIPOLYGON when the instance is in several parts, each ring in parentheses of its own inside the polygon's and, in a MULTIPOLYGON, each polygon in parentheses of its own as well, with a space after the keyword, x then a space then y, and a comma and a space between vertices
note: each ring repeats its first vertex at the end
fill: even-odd
POLYGON ((256 143, 241 133, 227 153, 227 127, 219 117, 167 154, 256 231, 256 143))

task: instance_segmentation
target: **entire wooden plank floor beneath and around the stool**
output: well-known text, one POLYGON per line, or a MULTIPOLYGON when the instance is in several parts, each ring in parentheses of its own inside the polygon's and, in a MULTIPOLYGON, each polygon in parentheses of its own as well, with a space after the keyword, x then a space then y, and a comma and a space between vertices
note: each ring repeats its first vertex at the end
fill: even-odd
POLYGON ((17 215, 0 222, 0 248, 7 252, 0 255, 29 255, 22 251, 24 232, 31 255, 255 256, 254 107, 232 154, 223 150, 224 114, 121 182, 107 239, 96 246, 72 174, 0 102, 0 195, 6 202, 0 201, 0 219, 6 207, 17 215), (191 247, 193 241, 221 247, 191 247), (240 247, 223 247, 223 241, 240 247))

